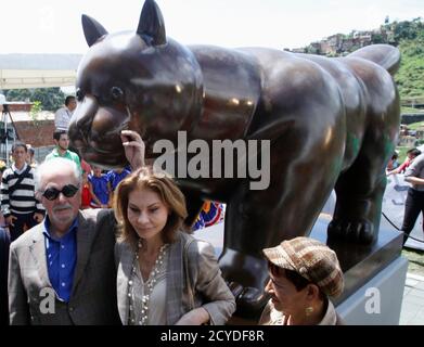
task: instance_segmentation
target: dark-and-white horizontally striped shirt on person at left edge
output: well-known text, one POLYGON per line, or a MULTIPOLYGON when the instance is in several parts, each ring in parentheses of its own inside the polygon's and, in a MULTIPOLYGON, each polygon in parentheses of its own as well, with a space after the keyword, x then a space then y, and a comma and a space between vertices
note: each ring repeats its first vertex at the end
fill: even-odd
POLYGON ((4 170, 1 180, 1 211, 4 217, 31 213, 44 213, 44 207, 36 200, 34 168, 27 170, 27 164, 18 170, 14 165, 4 170), (18 187, 18 179, 23 178, 18 187))

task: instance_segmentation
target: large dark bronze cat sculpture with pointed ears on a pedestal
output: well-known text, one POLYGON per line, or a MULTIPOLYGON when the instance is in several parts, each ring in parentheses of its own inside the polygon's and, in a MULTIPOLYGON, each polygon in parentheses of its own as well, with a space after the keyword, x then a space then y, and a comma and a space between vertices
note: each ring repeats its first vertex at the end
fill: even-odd
MULTIPOLYGON (((269 140, 270 179, 178 178, 192 222, 204 200, 227 204, 222 274, 240 312, 264 303, 261 249, 308 235, 335 188, 329 236, 371 244, 377 237, 385 166, 399 130, 390 46, 345 57, 266 48, 185 47, 166 37, 164 18, 146 0, 134 31, 107 34, 83 15, 90 47, 77 73, 73 145, 90 163, 126 164, 121 129, 138 131, 154 157, 155 141, 269 140)), ((192 154, 193 155, 193 154, 192 154)), ((260 155, 259 155, 260 156, 260 155)), ((156 156, 157 157, 157 156, 156 156)), ((246 313, 247 314, 247 313, 246 313)))

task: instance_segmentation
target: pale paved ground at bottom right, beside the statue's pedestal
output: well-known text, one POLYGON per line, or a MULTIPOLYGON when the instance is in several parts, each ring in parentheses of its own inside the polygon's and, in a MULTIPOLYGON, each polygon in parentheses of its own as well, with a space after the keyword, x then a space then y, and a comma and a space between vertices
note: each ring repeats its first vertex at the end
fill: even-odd
POLYGON ((424 252, 403 249, 408 258, 399 325, 424 325, 424 252))

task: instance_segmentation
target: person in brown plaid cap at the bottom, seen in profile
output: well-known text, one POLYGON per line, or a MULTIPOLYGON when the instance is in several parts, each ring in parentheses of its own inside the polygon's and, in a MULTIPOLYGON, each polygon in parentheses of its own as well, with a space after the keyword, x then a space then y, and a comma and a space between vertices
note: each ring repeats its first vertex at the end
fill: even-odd
POLYGON ((342 324, 330 297, 344 287, 343 271, 334 250, 309 237, 296 237, 264 249, 270 280, 266 291, 271 299, 259 324, 342 324))

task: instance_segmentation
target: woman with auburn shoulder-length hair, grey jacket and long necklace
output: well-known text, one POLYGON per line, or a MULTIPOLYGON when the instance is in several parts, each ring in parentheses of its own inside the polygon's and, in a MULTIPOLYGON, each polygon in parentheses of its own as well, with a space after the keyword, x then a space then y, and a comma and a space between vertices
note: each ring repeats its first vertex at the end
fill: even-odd
POLYGON ((138 169, 117 187, 114 207, 123 324, 224 324, 234 296, 211 245, 182 231, 185 201, 174 180, 138 169))

